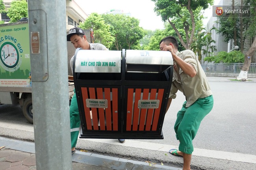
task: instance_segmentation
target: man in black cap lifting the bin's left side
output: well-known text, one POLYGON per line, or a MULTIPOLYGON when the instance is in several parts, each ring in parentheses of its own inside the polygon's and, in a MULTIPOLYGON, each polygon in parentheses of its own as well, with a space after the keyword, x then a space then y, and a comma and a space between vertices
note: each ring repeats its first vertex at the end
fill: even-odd
MULTIPOLYGON (((70 41, 74 47, 82 48, 84 50, 108 50, 107 47, 100 43, 89 43, 85 36, 84 31, 79 27, 74 27, 69 30, 69 34, 67 35, 67 41, 70 41)), ((70 67, 73 72, 73 63, 74 56, 72 56, 70 60, 70 67)), ((74 154, 76 152, 76 142, 79 135, 80 128, 80 115, 78 111, 78 104, 76 99, 76 93, 71 99, 70 103, 70 132, 71 132, 71 153, 74 154)), ((121 143, 124 143, 124 139, 118 139, 121 143)))

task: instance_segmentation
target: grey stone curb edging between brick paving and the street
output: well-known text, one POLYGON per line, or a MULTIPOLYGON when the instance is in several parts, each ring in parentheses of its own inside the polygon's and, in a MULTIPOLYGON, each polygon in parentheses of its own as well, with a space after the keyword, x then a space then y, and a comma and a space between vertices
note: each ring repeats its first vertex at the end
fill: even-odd
MULTIPOLYGON (((0 137, 0 146, 5 146, 5 148, 12 150, 19 150, 22 152, 35 154, 35 144, 32 142, 0 137)), ((72 155, 72 161, 87 165, 106 167, 115 170, 181 170, 180 168, 174 168, 171 166, 154 165, 152 163, 145 163, 140 161, 133 161, 129 159, 122 159, 118 157, 104 156, 100 154, 80 151, 77 151, 72 155)))

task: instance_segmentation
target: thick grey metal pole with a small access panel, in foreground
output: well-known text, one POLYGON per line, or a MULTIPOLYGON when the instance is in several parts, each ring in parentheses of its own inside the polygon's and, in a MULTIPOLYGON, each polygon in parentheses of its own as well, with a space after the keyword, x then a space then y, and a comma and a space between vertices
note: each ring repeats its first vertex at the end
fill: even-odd
POLYGON ((37 170, 71 170, 65 0, 28 0, 37 170))

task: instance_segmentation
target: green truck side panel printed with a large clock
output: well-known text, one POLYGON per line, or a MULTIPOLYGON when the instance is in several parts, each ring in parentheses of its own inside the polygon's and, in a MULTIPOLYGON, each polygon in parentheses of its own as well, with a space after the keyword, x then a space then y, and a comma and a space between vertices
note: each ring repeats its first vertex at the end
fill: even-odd
POLYGON ((0 91, 1 87, 31 88, 28 28, 28 22, 0 25, 0 91))

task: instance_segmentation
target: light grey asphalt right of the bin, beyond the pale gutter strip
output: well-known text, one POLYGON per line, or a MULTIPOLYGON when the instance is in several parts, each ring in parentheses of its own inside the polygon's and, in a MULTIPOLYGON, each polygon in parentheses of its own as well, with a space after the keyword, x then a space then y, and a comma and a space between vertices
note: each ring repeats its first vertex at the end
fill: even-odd
MULTIPOLYGON (((256 83, 210 81, 210 85, 214 106, 200 125, 194 147, 244 153, 241 146, 247 146, 247 154, 256 155, 256 83)), ((173 100, 163 124, 165 139, 157 143, 178 145, 173 126, 183 101, 181 93, 173 100)))

